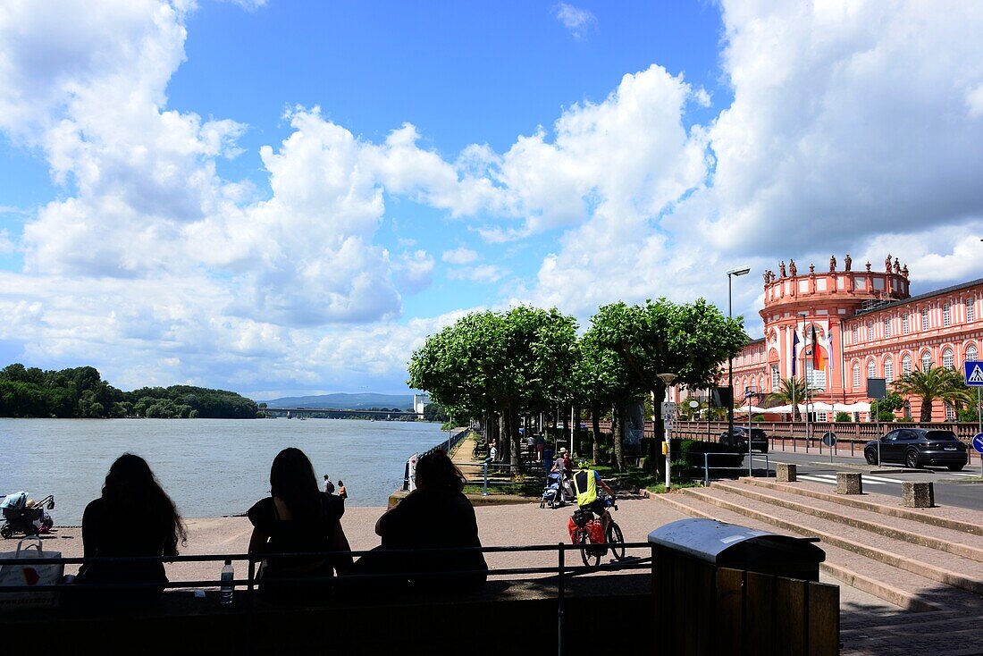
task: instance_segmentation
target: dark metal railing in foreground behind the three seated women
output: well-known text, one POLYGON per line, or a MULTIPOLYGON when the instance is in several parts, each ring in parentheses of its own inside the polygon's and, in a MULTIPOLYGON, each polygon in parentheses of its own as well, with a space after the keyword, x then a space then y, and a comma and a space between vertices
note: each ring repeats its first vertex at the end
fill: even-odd
MULTIPOLYGON (((309 552, 309 553, 289 553, 289 554, 204 554, 204 555, 194 555, 194 556, 144 556, 144 557, 128 557, 128 558, 14 558, 14 559, 4 559, 3 565, 7 566, 18 566, 18 565, 87 565, 87 564, 137 564, 137 563, 216 563, 221 564, 225 561, 232 562, 246 562, 247 567, 247 577, 246 578, 235 578, 232 580, 221 580, 221 579, 206 579, 206 580, 179 580, 179 581, 167 581, 167 582, 145 582, 145 581, 128 581, 124 583, 85 583, 85 584, 57 584, 57 585, 11 585, 0 587, 0 595, 3 593, 50 593, 50 592, 68 592, 68 591, 78 591, 80 593, 85 593, 89 590, 142 590, 142 589, 201 589, 202 587, 217 587, 222 586, 232 586, 235 588, 245 587, 250 593, 246 597, 245 613, 247 615, 248 622, 246 623, 247 631, 252 630, 253 622, 252 618, 255 613, 254 599, 257 591, 257 587, 261 586, 263 579, 257 576, 257 565, 262 561, 268 561, 271 559, 285 558, 285 559, 297 559, 297 558, 319 558, 322 560, 328 560, 332 558, 343 558, 349 559, 355 556, 366 556, 372 554, 374 557, 378 555, 385 555, 387 557, 398 557, 398 556, 411 556, 411 557, 426 557, 427 555, 459 555, 459 554, 501 554, 501 553, 522 553, 522 552, 551 552, 555 551, 557 560, 556 565, 549 567, 502 567, 502 568, 488 568, 488 569, 472 569, 472 570, 460 570, 460 569, 446 569, 446 570, 424 570, 424 571, 387 571, 384 573, 341 573, 338 576, 307 576, 303 574, 295 575, 289 578, 276 577, 272 579, 278 588, 289 587, 289 586, 305 586, 311 583, 328 583, 333 582, 335 584, 348 584, 357 583, 358 581, 373 581, 373 580, 406 580, 406 579, 419 579, 419 578, 448 578, 448 577, 460 577, 468 575, 485 575, 488 578, 492 577, 504 577, 504 576, 526 576, 527 578, 519 578, 518 580, 533 580, 532 574, 555 574, 556 575, 556 600, 557 600, 557 612, 556 612, 556 628, 557 628, 557 653, 563 654, 563 640, 564 640, 564 600, 566 597, 566 579, 570 576, 591 574, 596 572, 604 571, 621 571, 621 570, 641 570, 646 569, 651 572, 652 570, 652 546, 647 542, 630 542, 630 543, 619 543, 616 545, 612 544, 579 544, 571 545, 563 542, 557 543, 555 545, 529 545, 529 546, 507 546, 507 547, 455 547, 455 548, 440 548, 440 549, 401 549, 401 550, 369 550, 369 551, 348 551, 348 552, 309 552), (604 565, 597 565, 593 567, 588 566, 569 566, 566 563, 566 553, 567 552, 579 552, 584 549, 600 549, 604 547, 606 550, 617 547, 619 550, 624 548, 625 550, 638 550, 644 549, 647 552, 646 557, 629 557, 626 553, 624 559, 621 561, 616 561, 613 563, 608 563, 604 565)), ((606 551, 607 553, 607 551, 606 551)), ((357 588, 346 588, 346 589, 357 589, 357 588)), ((240 606, 240 602, 234 601, 237 607, 240 606)), ((314 605, 314 604, 312 604, 314 605)), ((317 604, 318 606, 320 604, 317 604)), ((31 610, 30 613, 36 613, 36 610, 31 610)), ((10 616, 8 616, 9 618, 10 616)), ((252 651, 252 640, 245 640, 246 653, 252 651)))

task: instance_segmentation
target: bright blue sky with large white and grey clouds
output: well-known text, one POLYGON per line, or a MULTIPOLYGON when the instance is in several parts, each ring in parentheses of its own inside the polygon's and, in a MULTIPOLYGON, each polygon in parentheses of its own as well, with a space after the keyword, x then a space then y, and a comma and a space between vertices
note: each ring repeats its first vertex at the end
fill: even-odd
POLYGON ((406 391, 467 312, 981 276, 983 4, 7 0, 0 364, 406 391))

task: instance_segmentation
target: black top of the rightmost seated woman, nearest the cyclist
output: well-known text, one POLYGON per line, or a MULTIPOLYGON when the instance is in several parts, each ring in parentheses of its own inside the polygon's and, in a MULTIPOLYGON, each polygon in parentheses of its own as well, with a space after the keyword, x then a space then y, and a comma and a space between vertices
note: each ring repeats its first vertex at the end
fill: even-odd
MULTIPOLYGON (((416 490, 380 520, 382 549, 435 549, 440 547, 481 547, 475 508, 460 492, 416 490)), ((481 552, 430 554, 405 559, 408 571, 471 571, 488 569, 481 552)), ((421 579, 425 582, 426 579, 421 579)), ((437 584, 436 579, 430 579, 437 584)), ((426 581, 426 582, 430 582, 426 581)), ((457 579, 460 583, 460 579, 457 579)), ((485 575, 470 578, 480 584, 485 575)))

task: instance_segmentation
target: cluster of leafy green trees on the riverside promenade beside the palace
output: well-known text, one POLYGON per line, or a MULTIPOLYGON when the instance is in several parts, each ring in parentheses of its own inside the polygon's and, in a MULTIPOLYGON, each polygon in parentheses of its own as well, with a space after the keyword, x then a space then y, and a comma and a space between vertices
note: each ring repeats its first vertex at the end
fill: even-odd
MULTIPOLYGON (((600 308, 578 336, 573 317, 556 308, 519 306, 471 313, 427 338, 410 363, 411 388, 430 392, 458 422, 481 419, 490 437, 502 436, 513 464, 519 458, 523 417, 568 416, 575 408, 594 422, 593 457, 599 457, 600 417, 612 411, 614 464, 624 469, 623 408, 655 394, 660 374, 673 385, 717 385, 720 365, 747 343, 743 319, 728 319, 704 299, 676 304, 665 298, 600 308), (562 408, 562 412, 558 410, 562 408)), ((662 431, 661 404, 654 408, 662 431)), ((654 468, 660 458, 652 458, 654 468)))

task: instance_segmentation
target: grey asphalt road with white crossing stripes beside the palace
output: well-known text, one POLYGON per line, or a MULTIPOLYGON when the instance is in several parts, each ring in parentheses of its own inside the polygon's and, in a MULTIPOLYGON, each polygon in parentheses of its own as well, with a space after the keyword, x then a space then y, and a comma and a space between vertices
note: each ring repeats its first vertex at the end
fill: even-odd
MULTIPOLYGON (((791 450, 771 451, 768 453, 771 469, 775 470, 776 462, 788 462, 796 465, 798 477, 815 483, 827 483, 831 487, 837 484, 838 471, 858 471, 857 467, 869 468, 862 456, 835 455, 830 462, 830 451, 823 448, 822 454, 816 447, 810 447, 806 453, 802 447, 795 452, 791 450)), ((871 492, 877 492, 895 497, 901 496, 901 483, 905 481, 931 481, 935 483, 935 501, 943 506, 967 507, 983 510, 983 482, 980 478, 979 462, 973 459, 973 466, 966 466, 960 472, 951 472, 943 467, 927 467, 925 472, 905 473, 901 466, 885 464, 879 470, 896 470, 890 473, 868 474, 864 472, 863 485, 871 492)), ((747 466, 747 458, 744 459, 747 466)), ((764 473, 764 461, 759 453, 754 454, 755 473, 764 473)))

